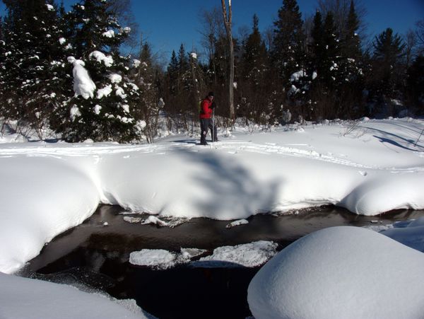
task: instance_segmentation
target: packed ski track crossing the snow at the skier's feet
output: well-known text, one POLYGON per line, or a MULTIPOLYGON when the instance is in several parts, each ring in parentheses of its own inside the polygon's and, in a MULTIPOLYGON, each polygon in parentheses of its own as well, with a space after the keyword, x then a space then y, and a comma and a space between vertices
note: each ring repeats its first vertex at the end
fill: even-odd
MULTIPOLYGON (((314 150, 299 149, 292 146, 305 146, 307 144, 288 144, 290 146, 278 146, 275 143, 254 144, 250 141, 218 141, 209 144, 209 147, 199 149, 194 142, 158 142, 157 144, 143 144, 143 145, 66 145, 64 147, 57 146, 28 146, 28 147, 10 147, 0 149, 0 158, 11 157, 15 155, 23 156, 49 156, 61 159, 61 156, 81 157, 81 156, 107 156, 118 153, 125 153, 124 158, 131 157, 129 153, 154 153, 156 155, 165 155, 173 151, 181 151, 182 149, 190 151, 213 151, 223 150, 228 153, 237 154, 239 151, 247 151, 260 154, 279 154, 281 156, 294 156, 299 158, 309 158, 317 161, 324 161, 334 163, 342 166, 350 166, 362 169, 372 170, 390 170, 391 173, 418 173, 423 172, 424 168, 396 168, 396 167, 381 167, 381 166, 367 166, 353 161, 346 160, 346 155, 338 154, 340 157, 332 156, 331 153, 319 153, 314 150)), ((421 154, 418 154, 421 156, 421 154)))

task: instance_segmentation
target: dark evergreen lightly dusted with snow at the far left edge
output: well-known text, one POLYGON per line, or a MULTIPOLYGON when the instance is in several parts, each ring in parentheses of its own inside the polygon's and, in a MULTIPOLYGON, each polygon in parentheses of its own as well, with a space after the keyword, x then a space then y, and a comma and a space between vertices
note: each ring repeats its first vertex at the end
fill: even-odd
POLYGON ((18 119, 45 137, 49 115, 57 108, 62 58, 57 11, 52 0, 6 0, 4 61, 7 105, 2 114, 18 119), (59 68, 58 68, 59 66, 59 68))

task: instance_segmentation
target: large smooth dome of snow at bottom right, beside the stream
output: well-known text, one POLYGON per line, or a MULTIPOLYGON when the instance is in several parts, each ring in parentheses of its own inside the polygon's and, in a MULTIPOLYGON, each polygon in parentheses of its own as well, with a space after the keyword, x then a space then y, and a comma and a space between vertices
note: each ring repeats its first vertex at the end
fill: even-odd
POLYGON ((255 318, 421 318, 424 255, 350 226, 289 245, 252 279, 255 318))

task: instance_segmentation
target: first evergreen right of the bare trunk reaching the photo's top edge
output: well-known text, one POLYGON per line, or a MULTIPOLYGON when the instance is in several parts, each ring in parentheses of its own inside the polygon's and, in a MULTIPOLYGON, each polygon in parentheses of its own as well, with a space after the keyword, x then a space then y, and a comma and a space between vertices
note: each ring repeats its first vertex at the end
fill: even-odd
POLYGON ((271 55, 278 76, 287 81, 291 74, 304 67, 305 60, 302 13, 296 0, 283 0, 274 26, 271 55))

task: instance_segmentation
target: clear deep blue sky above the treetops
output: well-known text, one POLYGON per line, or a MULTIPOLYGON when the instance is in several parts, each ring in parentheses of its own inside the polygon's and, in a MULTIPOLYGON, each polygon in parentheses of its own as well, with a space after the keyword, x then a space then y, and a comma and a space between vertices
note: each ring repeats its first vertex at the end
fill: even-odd
MULTIPOLYGON (((424 0, 360 0, 367 11, 367 33, 374 37, 386 28, 404 34, 424 18, 424 0), (384 11, 384 13, 383 13, 384 11)), ((67 8, 76 0, 64 0, 67 8)), ((226 1, 228 2, 228 1, 226 1)), ((199 12, 220 7, 220 0, 131 0, 134 16, 143 37, 153 50, 166 57, 176 52, 181 43, 187 51, 201 52, 199 12)), ((251 28, 254 13, 259 17, 259 28, 264 30, 276 20, 282 0, 232 0, 233 30, 245 25, 251 28)), ((317 8, 317 0, 298 0, 302 16, 310 16, 317 8)), ((4 5, 1 3, 0 6, 4 5)))

